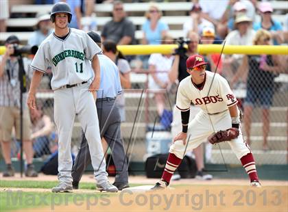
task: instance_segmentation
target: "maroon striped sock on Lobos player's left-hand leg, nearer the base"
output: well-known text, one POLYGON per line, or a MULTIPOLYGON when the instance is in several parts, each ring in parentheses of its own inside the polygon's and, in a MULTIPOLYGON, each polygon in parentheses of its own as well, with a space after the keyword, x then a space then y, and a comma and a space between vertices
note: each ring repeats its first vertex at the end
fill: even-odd
POLYGON ((171 177, 173 173, 178 168, 178 165, 180 165, 181 161, 182 159, 180 159, 179 157, 176 157, 176 155, 174 155, 173 153, 169 153, 168 159, 165 165, 165 170, 162 174, 162 180, 167 182, 168 185, 171 181, 171 177))

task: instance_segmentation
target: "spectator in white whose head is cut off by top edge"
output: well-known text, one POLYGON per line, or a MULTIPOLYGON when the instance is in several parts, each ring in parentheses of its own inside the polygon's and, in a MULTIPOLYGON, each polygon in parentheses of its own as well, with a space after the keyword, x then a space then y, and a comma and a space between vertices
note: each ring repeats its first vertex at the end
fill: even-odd
POLYGON ((215 25, 217 36, 221 39, 224 39, 227 35, 226 21, 223 21, 222 17, 224 16, 226 8, 233 5, 234 1, 235 0, 199 1, 202 8, 202 18, 205 18, 215 25))

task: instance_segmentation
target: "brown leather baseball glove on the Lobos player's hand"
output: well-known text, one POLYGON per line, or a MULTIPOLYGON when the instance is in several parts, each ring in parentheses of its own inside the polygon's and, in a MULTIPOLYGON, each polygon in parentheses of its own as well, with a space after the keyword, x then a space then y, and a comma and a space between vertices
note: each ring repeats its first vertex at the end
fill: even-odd
POLYGON ((208 137, 208 141, 211 144, 218 144, 221 142, 226 142, 235 139, 239 135, 239 129, 232 127, 230 129, 226 129, 226 131, 218 131, 217 133, 213 133, 208 137))

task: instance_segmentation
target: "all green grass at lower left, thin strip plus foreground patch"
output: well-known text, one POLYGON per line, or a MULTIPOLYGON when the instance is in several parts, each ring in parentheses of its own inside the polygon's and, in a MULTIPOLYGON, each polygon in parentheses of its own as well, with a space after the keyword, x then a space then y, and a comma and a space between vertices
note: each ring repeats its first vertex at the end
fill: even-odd
MULTIPOLYGON (((14 188, 42 188, 51 189, 56 186, 58 181, 0 181, 0 187, 14 187, 14 188)), ((144 184, 130 184, 131 187, 144 184)), ((80 183, 80 189, 95 189, 95 183, 80 183)), ((115 196, 117 194, 107 193, 91 193, 91 194, 79 194, 79 193, 52 193, 50 191, 0 191, 0 211, 14 211, 16 209, 29 209, 49 207, 53 209, 53 205, 65 204, 65 202, 73 203, 75 199, 82 198, 84 207, 87 207, 86 202, 95 202, 95 198, 108 199, 108 196, 115 196), (106 195, 106 196, 105 196, 106 195), (102 197, 101 197, 102 196, 102 197), (60 202, 60 203, 59 203, 60 202)), ((103 200, 103 199, 102 199, 103 200)))

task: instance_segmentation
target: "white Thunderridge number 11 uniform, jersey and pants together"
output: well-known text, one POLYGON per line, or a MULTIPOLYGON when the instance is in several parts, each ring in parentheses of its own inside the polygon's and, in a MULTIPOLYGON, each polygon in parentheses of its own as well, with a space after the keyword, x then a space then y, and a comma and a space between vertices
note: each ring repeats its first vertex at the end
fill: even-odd
POLYGON ((81 124, 91 153, 94 176, 98 183, 108 181, 106 162, 101 147, 97 109, 92 92, 94 77, 91 60, 101 49, 84 32, 69 29, 63 39, 51 34, 40 44, 32 68, 45 72, 51 66, 54 91, 54 121, 58 133, 58 178, 71 185, 71 137, 75 116, 81 124), (77 86, 76 86, 76 85, 77 86), (67 86, 65 85, 74 85, 67 86))

